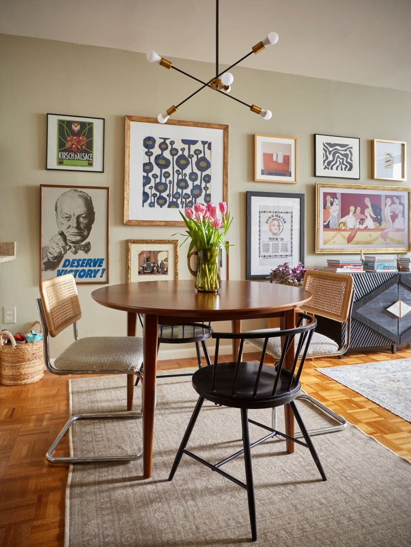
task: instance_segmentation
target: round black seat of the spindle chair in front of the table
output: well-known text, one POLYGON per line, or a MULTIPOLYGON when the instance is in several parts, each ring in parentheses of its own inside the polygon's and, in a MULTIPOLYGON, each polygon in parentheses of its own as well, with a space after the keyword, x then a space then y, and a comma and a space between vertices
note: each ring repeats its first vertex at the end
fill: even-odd
POLYGON ((236 363, 218 364, 215 389, 212 387, 213 368, 206 366, 196 370, 192 379, 195 391, 200 397, 219 405, 234 408, 265 409, 289 403, 297 397, 301 390, 300 382, 296 382, 295 386, 289 388, 290 372, 283 369, 276 393, 273 395, 272 388, 277 371, 273 366, 263 365, 258 381, 257 396, 253 398, 259 363, 242 362, 239 369, 236 365, 236 363), (238 376, 235 380, 236 370, 238 370, 238 376), (234 389, 233 386, 235 386, 234 389))

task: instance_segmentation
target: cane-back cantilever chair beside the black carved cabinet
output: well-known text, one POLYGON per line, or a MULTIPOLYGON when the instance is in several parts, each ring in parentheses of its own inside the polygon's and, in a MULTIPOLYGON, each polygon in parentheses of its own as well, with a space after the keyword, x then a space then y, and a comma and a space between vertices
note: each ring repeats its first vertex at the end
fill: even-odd
MULTIPOLYGON (((315 317, 325 317, 345 323, 344 340, 340 343, 331 339, 325 334, 320 334, 316 329, 313 334, 311 344, 308 348, 307 357, 339 357, 341 358, 348 350, 350 342, 350 321, 351 310, 354 300, 353 277, 349 274, 337 274, 334 272, 324 272, 318 270, 307 270, 303 288, 309 290, 312 294, 311 300, 302 306, 302 311, 312 314, 315 317)), ((267 329, 261 329, 259 332, 264 334, 267 329)), ((252 331, 257 332, 257 331, 252 331)), ((252 343, 261 349, 264 339, 252 340, 252 343)), ((272 339, 267 346, 267 353, 275 360, 281 356, 281 347, 278 339, 272 339)), ((319 435, 322 433, 332 433, 344 429, 347 426, 346 420, 336 412, 321 404, 317 399, 302 393, 300 399, 307 400, 313 406, 316 406, 324 414, 330 416, 338 425, 327 426, 319 429, 309 430, 310 435, 319 435)), ((275 418, 275 412, 273 412, 275 418)), ((275 423, 275 421, 273 421, 275 423)))

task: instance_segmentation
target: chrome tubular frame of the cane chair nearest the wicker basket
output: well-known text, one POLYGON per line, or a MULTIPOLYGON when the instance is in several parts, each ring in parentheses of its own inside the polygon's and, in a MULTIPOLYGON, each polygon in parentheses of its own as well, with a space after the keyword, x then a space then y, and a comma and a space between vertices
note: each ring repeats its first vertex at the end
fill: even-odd
MULTIPOLYGON (((61 276, 63 277, 63 276, 61 276)), ((74 283, 75 286, 75 283, 74 283)), ((41 287, 41 284, 40 284, 41 287)), ((135 374, 138 375, 142 380, 142 375, 139 373, 139 371, 134 370, 112 370, 112 369, 102 369, 102 370, 64 370, 64 369, 57 369, 50 360, 50 345, 49 345, 49 328, 47 326, 47 320, 46 320, 46 314, 44 312, 43 304, 41 302, 41 298, 36 299, 37 307, 40 315, 40 321, 41 325, 43 327, 43 350, 44 350, 44 361, 46 365, 46 369, 49 370, 52 374, 59 374, 59 375, 67 375, 67 374, 135 374)), ((81 317, 81 312, 80 312, 81 317)), ((74 340, 78 341, 78 325, 77 321, 73 322, 73 335, 74 340)), ((143 451, 139 451, 137 454, 121 454, 121 455, 115 455, 115 456, 90 456, 90 457, 77 457, 77 456, 53 456, 53 453, 55 452, 59 442, 62 440, 64 435, 68 432, 70 426, 78 420, 94 420, 99 418, 127 418, 127 419, 136 419, 136 418, 142 418, 142 412, 101 412, 99 414, 77 414, 74 416, 70 416, 69 420, 64 424, 63 429, 61 432, 57 435, 55 441, 50 446, 49 450, 47 450, 46 458, 48 461, 52 463, 92 463, 92 462, 129 462, 129 461, 135 461, 136 459, 141 458, 143 451)))

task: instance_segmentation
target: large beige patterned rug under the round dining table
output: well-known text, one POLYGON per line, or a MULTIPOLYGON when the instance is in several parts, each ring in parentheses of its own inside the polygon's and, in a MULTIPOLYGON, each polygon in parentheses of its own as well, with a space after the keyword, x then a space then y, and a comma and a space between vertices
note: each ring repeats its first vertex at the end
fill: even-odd
MULTIPOLYGON (((222 547, 250 545, 246 491, 183 456, 168 475, 196 402, 189 377, 157 382, 152 478, 142 461, 75 464, 66 497, 65 547, 222 547)), ((139 388, 136 388, 139 389, 139 388)), ((124 409, 120 376, 71 381, 73 412, 124 409)), ((140 392, 136 393, 139 400, 140 392)), ((323 418, 297 401, 306 424, 323 418)), ((308 407, 308 405, 307 405, 308 407)), ((270 424, 270 412, 251 411, 270 424)), ((91 429, 78 422, 73 450, 105 444, 132 453, 141 446, 141 421, 109 421, 91 429), (103 439, 103 440, 98 440, 103 439), (124 447, 123 447, 124 448, 124 447)), ((264 434, 264 433, 263 433, 264 434)), ((252 439, 263 436, 251 429, 252 439)), ((313 437, 327 481, 309 451, 285 453, 283 441, 253 449, 257 533, 255 545, 272 547, 401 547, 411 544, 411 465, 354 426, 313 437)), ((240 411, 205 403, 189 449, 217 462, 241 446, 240 411), (209 445, 212 445, 210 448, 209 445)), ((244 480, 243 459, 226 466, 244 480)))

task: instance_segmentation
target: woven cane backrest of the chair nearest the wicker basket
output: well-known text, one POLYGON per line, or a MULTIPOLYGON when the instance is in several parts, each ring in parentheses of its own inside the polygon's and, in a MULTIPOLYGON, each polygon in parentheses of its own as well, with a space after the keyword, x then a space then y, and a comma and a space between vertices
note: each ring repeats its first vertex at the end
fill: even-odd
POLYGON ((50 336, 57 336, 81 318, 79 297, 72 274, 42 281, 40 295, 50 336))

